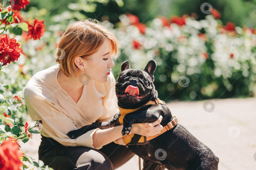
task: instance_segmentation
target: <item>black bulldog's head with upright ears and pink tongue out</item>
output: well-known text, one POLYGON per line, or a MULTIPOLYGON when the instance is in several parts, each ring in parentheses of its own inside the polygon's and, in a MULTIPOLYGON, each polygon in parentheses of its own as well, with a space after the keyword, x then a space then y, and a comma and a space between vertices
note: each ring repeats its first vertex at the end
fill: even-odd
POLYGON ((118 100, 132 105, 147 99, 147 96, 155 90, 153 85, 155 68, 154 60, 149 61, 143 70, 130 69, 129 61, 123 62, 122 72, 116 83, 118 100))

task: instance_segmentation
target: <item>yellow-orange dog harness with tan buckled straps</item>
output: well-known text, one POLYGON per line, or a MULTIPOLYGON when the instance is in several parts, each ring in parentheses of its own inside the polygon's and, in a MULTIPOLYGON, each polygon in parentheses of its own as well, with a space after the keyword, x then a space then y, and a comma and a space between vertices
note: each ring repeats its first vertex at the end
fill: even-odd
MULTIPOLYGON (((165 105, 166 103, 164 101, 160 100, 159 98, 157 98, 157 99, 155 99, 155 101, 149 101, 145 105, 150 105, 150 104, 165 105)), ((145 106, 145 105, 143 105, 143 106, 145 106)), ((124 109, 124 108, 119 107, 120 114, 121 114, 121 116, 119 116, 119 118, 117 119, 119 125, 124 123, 123 119, 126 114, 134 112, 140 108, 141 107, 136 108, 136 109, 124 109)), ((174 126, 177 125, 177 122, 178 122, 178 119, 176 117, 173 117, 172 121, 170 121, 166 126, 163 127, 160 134, 163 134, 164 132, 174 128, 174 126)), ((128 134, 126 136, 123 136, 123 141, 124 141, 126 147, 128 147, 128 145, 145 145, 145 144, 149 143, 149 140, 154 139, 155 137, 159 136, 160 134, 157 134, 155 136, 147 136, 147 137, 139 135, 139 134, 128 134)))

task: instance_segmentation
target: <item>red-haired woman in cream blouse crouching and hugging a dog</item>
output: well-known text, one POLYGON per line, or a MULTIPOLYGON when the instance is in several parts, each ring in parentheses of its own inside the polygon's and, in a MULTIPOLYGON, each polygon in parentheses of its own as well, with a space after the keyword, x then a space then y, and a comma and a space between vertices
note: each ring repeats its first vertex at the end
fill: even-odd
MULTIPOLYGON (((66 135, 85 125, 107 121, 119 111, 111 73, 111 55, 116 57, 118 50, 116 37, 97 20, 76 21, 61 36, 58 64, 39 71, 28 81, 24 98, 30 117, 43 122, 38 153, 49 167, 109 170, 134 156, 121 138, 123 125, 93 129, 77 139, 66 135)), ((137 124, 142 129, 138 134, 160 133, 161 120, 151 127, 148 123, 137 124)), ((144 168, 160 169, 154 162, 144 162, 144 168)))

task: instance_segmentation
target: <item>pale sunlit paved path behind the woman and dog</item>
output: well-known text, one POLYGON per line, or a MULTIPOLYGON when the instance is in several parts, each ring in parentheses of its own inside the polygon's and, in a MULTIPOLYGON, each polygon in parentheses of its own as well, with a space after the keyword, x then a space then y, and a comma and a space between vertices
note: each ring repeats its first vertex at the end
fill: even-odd
MULTIPOLYGON (((180 124, 219 157, 220 170, 255 170, 256 98, 210 101, 214 110, 211 104, 206 106, 206 101, 169 102, 167 106, 180 124)), ((29 123, 32 125, 34 122, 29 123)), ((40 134, 33 134, 27 143, 19 142, 21 150, 36 162, 40 138, 40 134)), ((138 170, 137 156, 117 170, 131 169, 138 170)))

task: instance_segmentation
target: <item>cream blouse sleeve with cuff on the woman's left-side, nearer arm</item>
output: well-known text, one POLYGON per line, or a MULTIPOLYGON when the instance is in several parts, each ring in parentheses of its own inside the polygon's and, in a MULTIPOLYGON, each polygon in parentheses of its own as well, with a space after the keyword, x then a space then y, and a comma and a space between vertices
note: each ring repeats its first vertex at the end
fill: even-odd
POLYGON ((78 127, 58 104, 27 87, 24 90, 24 99, 30 117, 33 120, 42 120, 42 131, 40 132, 42 135, 51 137, 64 146, 102 148, 102 146, 98 148, 93 146, 92 136, 99 128, 92 129, 76 139, 70 139, 66 134, 78 127))

